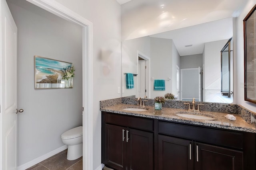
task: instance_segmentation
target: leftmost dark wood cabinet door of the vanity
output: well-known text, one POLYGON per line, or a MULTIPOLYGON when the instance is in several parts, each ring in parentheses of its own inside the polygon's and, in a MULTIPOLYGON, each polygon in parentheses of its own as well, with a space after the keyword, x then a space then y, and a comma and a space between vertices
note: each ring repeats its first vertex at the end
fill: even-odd
POLYGON ((116 170, 126 170, 126 128, 106 124, 104 164, 116 170))

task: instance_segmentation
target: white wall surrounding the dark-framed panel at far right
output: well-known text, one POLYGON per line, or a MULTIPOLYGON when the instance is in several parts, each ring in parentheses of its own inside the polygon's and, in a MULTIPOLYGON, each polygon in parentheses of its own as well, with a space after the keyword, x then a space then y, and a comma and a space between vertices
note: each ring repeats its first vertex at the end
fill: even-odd
MULTIPOLYGON (((234 66, 234 96, 236 103, 240 104, 251 111, 256 112, 256 104, 244 101, 244 28, 243 20, 250 10, 256 4, 256 0, 249 0, 242 9, 240 16, 236 19, 236 46, 234 46, 234 55, 236 65, 234 66)), ((235 45, 235 44, 234 44, 235 45)))

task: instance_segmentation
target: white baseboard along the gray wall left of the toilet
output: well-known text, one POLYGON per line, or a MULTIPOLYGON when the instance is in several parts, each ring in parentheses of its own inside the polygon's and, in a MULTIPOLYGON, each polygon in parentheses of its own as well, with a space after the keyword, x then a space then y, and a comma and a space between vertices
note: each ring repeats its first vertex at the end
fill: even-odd
POLYGON ((25 170, 35 164, 38 164, 39 162, 42 162, 43 160, 46 160, 47 158, 50 158, 51 156, 65 150, 67 148, 68 148, 68 145, 64 145, 62 147, 59 147, 58 149, 52 150, 51 152, 48 152, 47 154, 44 154, 34 160, 27 162, 26 164, 18 166, 18 170, 25 170))

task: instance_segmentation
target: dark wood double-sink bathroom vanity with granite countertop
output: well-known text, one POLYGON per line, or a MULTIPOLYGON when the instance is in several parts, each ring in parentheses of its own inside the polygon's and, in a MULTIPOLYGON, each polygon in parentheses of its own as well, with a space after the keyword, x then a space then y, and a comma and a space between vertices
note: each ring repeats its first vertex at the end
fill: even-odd
POLYGON ((163 107, 102 107, 102 163, 114 170, 256 170, 256 129, 240 115, 202 111, 214 120, 177 116, 163 107))

